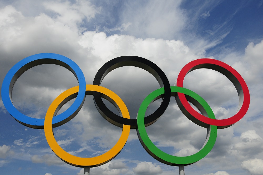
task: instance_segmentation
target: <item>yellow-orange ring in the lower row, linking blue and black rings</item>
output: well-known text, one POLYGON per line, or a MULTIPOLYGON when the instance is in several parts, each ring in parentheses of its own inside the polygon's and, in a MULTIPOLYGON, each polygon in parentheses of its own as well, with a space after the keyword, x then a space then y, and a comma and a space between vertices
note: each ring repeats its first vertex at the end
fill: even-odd
MULTIPOLYGON (((120 136, 120 139, 118 142, 114 145, 112 149, 110 149, 108 152, 99 155, 97 157, 91 157, 91 158, 82 158, 82 157, 76 157, 74 155, 71 155, 64 151, 55 140, 54 134, 53 134, 53 127, 52 127, 52 118, 58 111, 59 106, 62 103, 65 103, 65 99, 67 99, 69 96, 72 96, 74 94, 77 94, 79 90, 79 86, 75 86, 73 88, 70 88, 60 94, 49 106, 47 114, 45 116, 44 121, 44 131, 45 131, 45 137, 47 139, 47 142, 50 146, 50 148, 53 150, 53 152, 64 162, 71 164, 73 166, 77 167, 97 167, 102 164, 105 164, 112 160, 118 153, 122 150, 125 143, 127 142, 129 133, 130 133, 130 126, 129 125, 123 125, 122 135, 120 136)), ((111 98, 120 109, 120 113, 124 118, 130 118, 128 109, 122 99, 119 98, 117 94, 112 92, 111 90, 104 88, 102 86, 97 85, 86 85, 86 95, 88 91, 97 91, 100 93, 103 93, 107 95, 109 98, 111 98)), ((90 94, 92 95, 92 93, 90 94)))

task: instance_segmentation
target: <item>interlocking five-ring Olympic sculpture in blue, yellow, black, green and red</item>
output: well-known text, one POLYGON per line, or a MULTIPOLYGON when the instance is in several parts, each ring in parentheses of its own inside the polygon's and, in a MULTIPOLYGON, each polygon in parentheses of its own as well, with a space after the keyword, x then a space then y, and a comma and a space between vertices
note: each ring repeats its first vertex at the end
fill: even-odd
POLYGON ((199 161, 211 151, 216 141, 217 129, 230 127, 246 114, 250 104, 250 95, 247 85, 240 74, 231 66, 214 59, 198 59, 189 62, 180 71, 175 85, 176 86, 170 86, 166 75, 156 64, 137 56, 122 56, 108 61, 95 75, 93 85, 86 85, 85 77, 82 71, 72 60, 58 54, 43 53, 29 56, 19 61, 9 70, 3 80, 1 95, 3 104, 11 116, 19 123, 27 127, 44 129, 45 137, 50 148, 60 159, 70 165, 77 167, 97 167, 109 162, 116 155, 118 155, 124 147, 128 139, 130 129, 136 129, 141 144, 152 157, 168 165, 185 166, 199 161), (12 89, 16 80, 21 74, 23 74, 23 72, 31 67, 41 64, 57 64, 67 68, 77 78, 79 86, 70 88, 60 94, 49 106, 45 119, 36 119, 22 114, 14 107, 12 102, 12 89), (161 87, 160 89, 150 93, 143 100, 137 114, 137 119, 130 119, 129 111, 126 105, 117 94, 100 86, 103 78, 110 71, 122 66, 136 66, 150 72, 150 74, 152 74, 159 82, 161 87), (234 84, 239 95, 239 109, 234 116, 227 119, 216 119, 212 109, 201 96, 189 89, 183 88, 185 75, 192 70, 201 68, 216 70, 225 75, 234 84), (99 113, 106 120, 118 127, 123 128, 120 139, 112 149, 102 155, 92 158, 76 157, 65 152, 58 145, 53 134, 54 127, 67 123, 79 112, 86 95, 93 95, 94 103, 99 113), (146 133, 145 127, 153 124, 161 117, 168 107, 171 96, 175 97, 180 110, 187 118, 195 124, 207 128, 207 136, 203 147, 199 152, 193 155, 176 157, 167 154, 157 148, 146 133), (73 98, 76 98, 74 103, 63 113, 57 115, 59 109, 73 98), (110 111, 103 103, 102 98, 110 101, 119 110, 120 115, 116 115, 110 111), (160 107, 153 114, 145 117, 145 111, 148 106, 159 98, 163 99, 160 107), (200 110, 201 114, 193 109, 189 102, 195 105, 200 110))

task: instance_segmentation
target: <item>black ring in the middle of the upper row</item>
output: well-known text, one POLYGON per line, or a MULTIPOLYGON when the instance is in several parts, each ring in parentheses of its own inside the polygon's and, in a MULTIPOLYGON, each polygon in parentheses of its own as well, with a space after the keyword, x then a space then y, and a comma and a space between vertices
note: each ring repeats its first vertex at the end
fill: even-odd
MULTIPOLYGON (((168 78, 160 69, 160 67, 158 67, 150 60, 138 56, 121 56, 108 61, 98 70, 97 74, 95 75, 93 85, 100 85, 103 78, 110 71, 123 66, 135 66, 148 71, 156 78, 161 88, 164 87, 164 95, 160 107, 154 113, 152 113, 149 116, 146 116, 144 119, 145 127, 149 126, 163 115, 164 111, 169 105, 171 97, 171 88, 168 78)), ((118 127, 123 127, 123 125, 130 125, 131 129, 137 128, 137 119, 127 119, 113 113, 103 103, 101 94, 99 92, 93 92, 93 99, 99 113, 110 123, 118 127)))

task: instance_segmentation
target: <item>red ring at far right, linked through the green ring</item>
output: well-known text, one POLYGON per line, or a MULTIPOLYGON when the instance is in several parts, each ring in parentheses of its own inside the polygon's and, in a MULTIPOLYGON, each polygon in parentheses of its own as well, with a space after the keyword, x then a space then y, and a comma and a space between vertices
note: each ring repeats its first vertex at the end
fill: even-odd
POLYGON ((204 115, 199 114, 186 100, 185 95, 182 93, 178 93, 178 98, 176 98, 176 101, 180 109, 188 111, 189 114, 187 115, 187 117, 195 124, 198 124, 202 127, 207 127, 208 125, 218 126, 218 129, 230 127, 231 125, 239 121, 246 114, 249 108, 250 95, 246 82, 235 69, 225 64, 224 62, 203 58, 191 61, 183 67, 177 77, 176 86, 183 87, 183 81, 186 74, 188 74, 192 70, 200 68, 207 68, 218 71, 221 74, 225 75, 234 84, 239 96, 238 111, 234 116, 227 119, 210 119, 204 115))

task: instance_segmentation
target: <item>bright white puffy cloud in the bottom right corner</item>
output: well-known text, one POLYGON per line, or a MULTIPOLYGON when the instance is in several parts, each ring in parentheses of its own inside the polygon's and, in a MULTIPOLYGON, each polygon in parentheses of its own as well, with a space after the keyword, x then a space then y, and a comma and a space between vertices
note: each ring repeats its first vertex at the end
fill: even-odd
POLYGON ((249 159, 247 161, 243 161, 241 167, 253 175, 261 175, 263 172, 263 160, 249 159))

